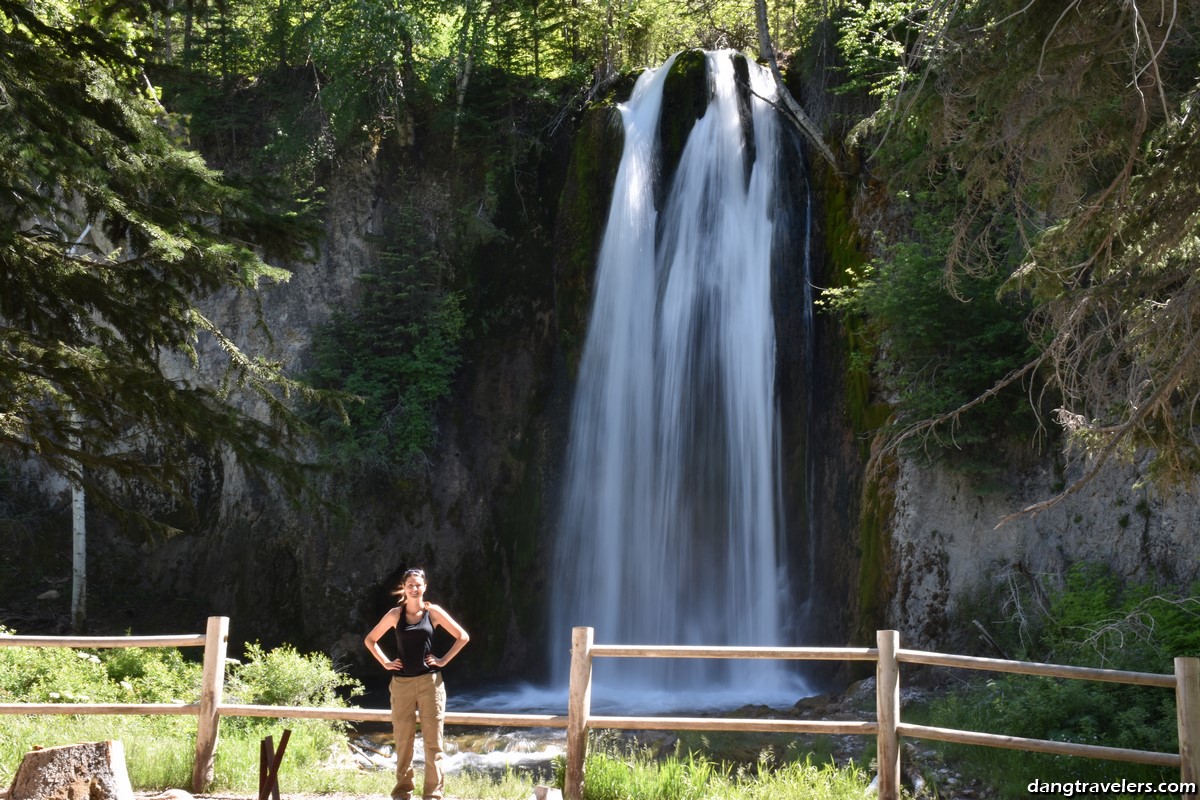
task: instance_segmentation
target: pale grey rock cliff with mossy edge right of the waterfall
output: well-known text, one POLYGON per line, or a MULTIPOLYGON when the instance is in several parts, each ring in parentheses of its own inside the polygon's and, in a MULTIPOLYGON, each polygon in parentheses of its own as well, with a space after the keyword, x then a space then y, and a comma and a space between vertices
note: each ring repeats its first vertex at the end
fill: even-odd
MULTIPOLYGON (((817 283, 826 287, 841 285, 847 267, 880 254, 872 249, 877 231, 902 224, 886 176, 872 174, 859 161, 868 154, 847 144, 856 139, 853 121, 874 107, 863 96, 830 91, 841 80, 829 62, 835 50, 827 40, 824 47, 797 53, 790 70, 793 94, 828 140, 846 148, 840 156, 847 174, 817 180, 826 253, 817 283)), ((1103 564, 1124 579, 1184 588, 1200 578, 1194 487, 1144 486, 1136 465, 1111 464, 1062 503, 998 528, 1003 518, 1070 486, 1084 465, 1067 465, 1064 453, 1050 451, 1004 470, 994 482, 1003 491, 989 493, 946 467, 908 459, 868 474, 865 451, 871 431, 886 420, 887 398, 854 385, 846 368, 845 350, 857 332, 844 319, 817 317, 820 381, 828 385, 826 401, 814 408, 814 429, 818 449, 833 453, 829 463, 840 468, 818 473, 815 497, 850 515, 824 510, 817 525, 822 590, 836 599, 821 614, 832 630, 874 644, 874 631, 889 627, 905 646, 983 651, 988 645, 974 618, 986 626, 1006 613, 1000 603, 1012 587, 1031 579, 1055 585, 1074 564, 1103 564)), ((996 453, 997 464, 1004 459, 996 453)))

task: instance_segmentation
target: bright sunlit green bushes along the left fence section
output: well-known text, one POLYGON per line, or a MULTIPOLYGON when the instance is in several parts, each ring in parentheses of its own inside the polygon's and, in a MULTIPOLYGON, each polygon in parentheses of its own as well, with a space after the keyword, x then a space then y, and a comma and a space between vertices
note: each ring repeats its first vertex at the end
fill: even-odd
MULTIPOLYGON (((0 632, 8 632, 0 628, 0 632)), ((0 648, 0 703, 194 703, 203 668, 179 650, 113 648, 95 652, 67 648, 0 648)), ((361 685, 334 669, 323 654, 281 646, 246 648, 246 661, 226 676, 229 703, 344 706, 361 685)), ((380 793, 386 781, 359 780, 356 770, 337 769, 344 753, 346 723, 325 720, 277 720, 223 716, 216 758, 216 789, 248 790, 257 783, 259 741, 292 730, 283 776, 287 786, 316 790, 355 789, 380 793)), ((12 778, 22 757, 35 745, 55 746, 116 739, 125 744, 130 780, 136 788, 187 787, 196 746, 192 715, 20 715, 4 718, 0 736, 0 784, 12 778)), ((390 784, 389 784, 390 786, 390 784)))

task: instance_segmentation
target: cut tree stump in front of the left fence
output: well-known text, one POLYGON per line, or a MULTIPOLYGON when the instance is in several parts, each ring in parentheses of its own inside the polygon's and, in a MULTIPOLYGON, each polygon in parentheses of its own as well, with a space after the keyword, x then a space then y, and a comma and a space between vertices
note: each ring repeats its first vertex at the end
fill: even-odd
POLYGON ((125 746, 94 741, 25 753, 8 800, 133 800, 125 746))

